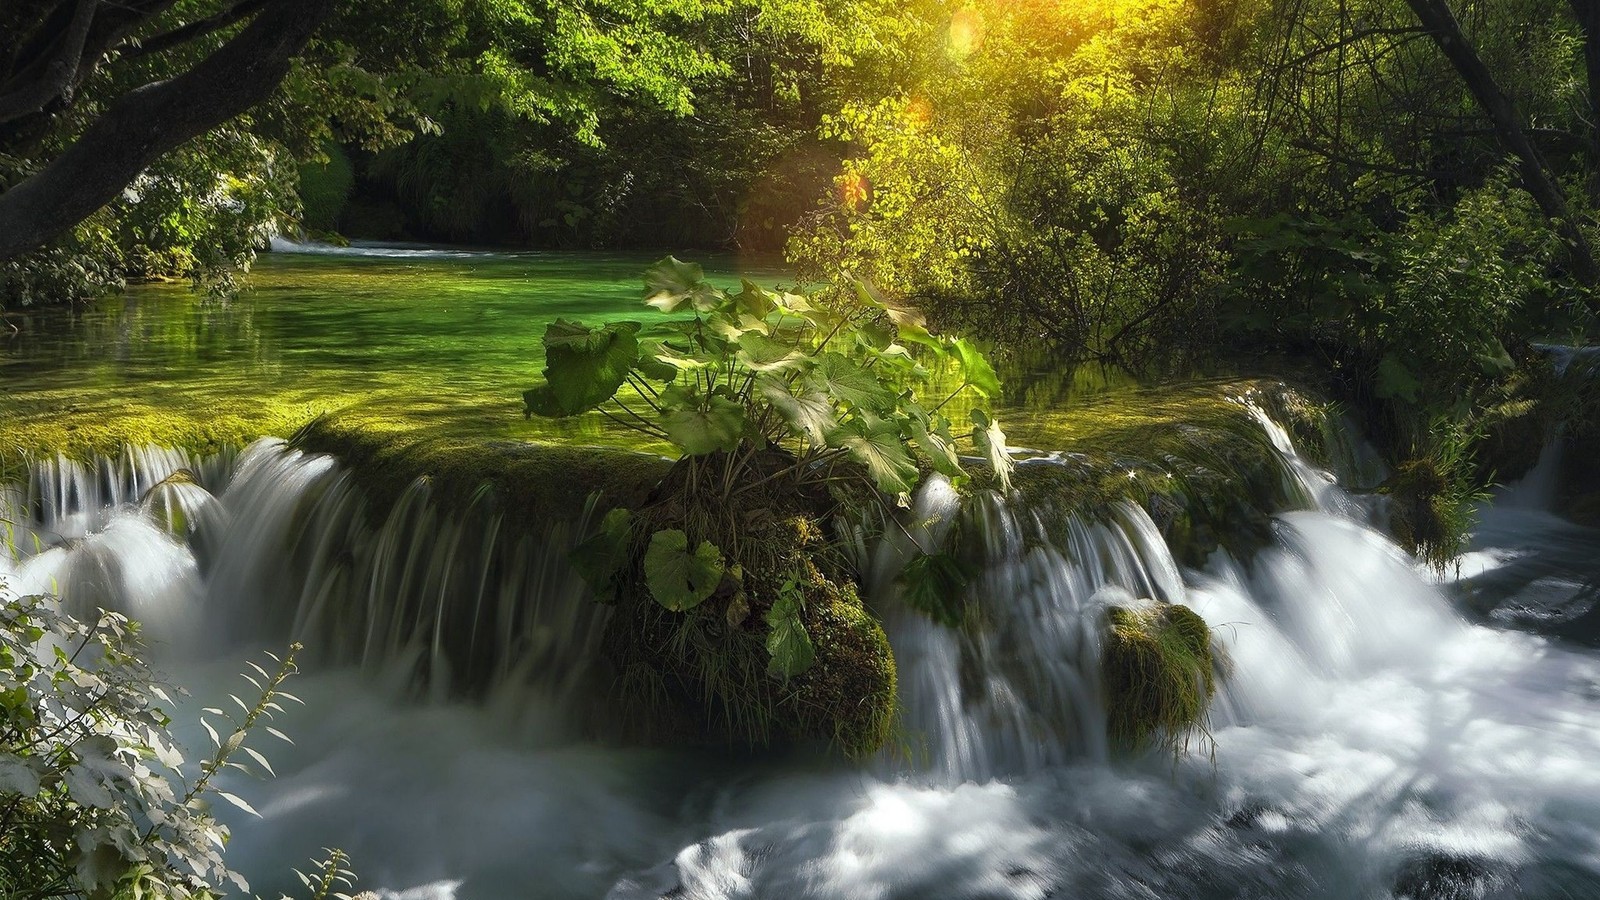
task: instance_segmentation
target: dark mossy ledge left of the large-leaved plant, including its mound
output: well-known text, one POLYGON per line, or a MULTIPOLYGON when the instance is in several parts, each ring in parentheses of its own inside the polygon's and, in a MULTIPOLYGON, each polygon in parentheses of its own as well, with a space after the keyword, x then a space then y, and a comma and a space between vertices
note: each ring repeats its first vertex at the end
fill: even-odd
POLYGON ((714 540, 741 565, 739 578, 688 612, 658 604, 645 583, 643 543, 613 596, 603 642, 614 674, 611 722, 634 740, 768 746, 827 743, 845 756, 877 751, 894 721, 896 669, 883 626, 862 604, 853 573, 829 552, 826 493, 760 492, 733 511, 680 498, 680 466, 650 453, 517 440, 472 440, 374 428, 358 416, 320 416, 291 445, 341 460, 381 519, 418 479, 446 508, 485 490, 507 524, 544 530, 597 511, 627 508, 642 535, 683 528, 714 540), (738 538, 734 538, 734 533, 738 538), (803 597, 814 663, 792 679, 768 671, 766 613, 786 583, 803 597), (734 599, 738 597, 738 601, 734 599))

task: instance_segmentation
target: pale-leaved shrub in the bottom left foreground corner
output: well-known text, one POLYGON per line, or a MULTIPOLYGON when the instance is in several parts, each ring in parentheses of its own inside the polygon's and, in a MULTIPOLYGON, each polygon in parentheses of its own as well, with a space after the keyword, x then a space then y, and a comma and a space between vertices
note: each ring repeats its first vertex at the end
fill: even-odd
POLYGON ((296 649, 274 657, 272 671, 251 665, 254 676, 245 677, 259 697, 248 705, 235 697, 238 714, 206 709, 213 753, 190 764, 158 706, 171 700, 138 657, 134 623, 101 613, 86 625, 43 597, 3 597, 0 890, 182 898, 219 897, 229 882, 245 889, 222 862, 227 826, 211 804, 254 810, 216 778, 248 772, 238 756, 270 773, 246 738, 291 698, 282 685, 296 649))

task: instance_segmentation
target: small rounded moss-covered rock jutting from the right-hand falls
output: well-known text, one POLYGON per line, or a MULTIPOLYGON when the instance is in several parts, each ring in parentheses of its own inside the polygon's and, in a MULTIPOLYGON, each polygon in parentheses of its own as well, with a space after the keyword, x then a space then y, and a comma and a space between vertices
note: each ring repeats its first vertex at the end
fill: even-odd
POLYGON ((1101 674, 1112 745, 1178 753, 1189 735, 1205 729, 1216 693, 1211 629, 1178 604, 1112 607, 1101 674))

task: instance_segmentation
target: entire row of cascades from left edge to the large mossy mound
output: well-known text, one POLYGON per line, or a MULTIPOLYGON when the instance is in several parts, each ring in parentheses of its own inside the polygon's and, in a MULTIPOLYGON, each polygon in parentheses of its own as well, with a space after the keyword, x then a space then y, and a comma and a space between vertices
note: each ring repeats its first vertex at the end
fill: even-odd
POLYGON ((565 565, 584 524, 522 533, 490 493, 446 509, 419 480, 374 520, 333 458, 259 440, 43 460, 5 498, 14 591, 125 612, 189 653, 299 641, 306 661, 435 698, 512 682, 570 697, 597 657, 605 607, 565 565))

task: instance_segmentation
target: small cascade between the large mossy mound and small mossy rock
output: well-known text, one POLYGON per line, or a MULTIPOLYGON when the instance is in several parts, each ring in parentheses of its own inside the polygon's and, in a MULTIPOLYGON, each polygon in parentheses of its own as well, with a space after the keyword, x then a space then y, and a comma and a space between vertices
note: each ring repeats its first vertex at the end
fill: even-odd
POLYGON ((926 767, 958 783, 1107 759, 1104 610, 1186 599, 1160 530, 1131 503, 1054 527, 995 495, 962 514, 982 541, 968 586, 982 625, 957 631, 904 609, 888 621, 906 724, 928 745, 926 767))

